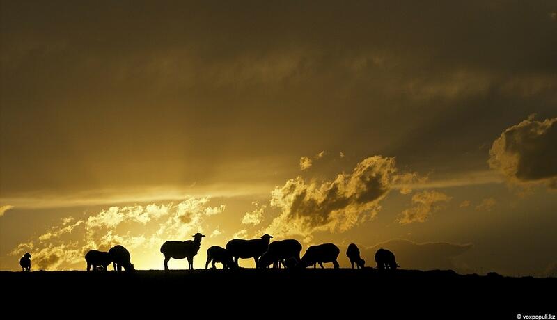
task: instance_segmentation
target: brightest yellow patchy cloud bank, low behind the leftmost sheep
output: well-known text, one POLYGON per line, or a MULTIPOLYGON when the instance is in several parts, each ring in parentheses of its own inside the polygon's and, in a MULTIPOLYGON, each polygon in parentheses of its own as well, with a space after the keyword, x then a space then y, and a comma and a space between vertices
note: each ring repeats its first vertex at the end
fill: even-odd
MULTIPOLYGON (((56 270, 82 264, 88 250, 109 250, 116 244, 125 246, 130 253, 152 251, 168 239, 191 239, 191 234, 203 230, 205 218, 226 209, 225 205, 213 207, 209 202, 209 197, 191 197, 178 204, 109 207, 78 221, 63 218, 40 234, 38 240, 19 243, 10 255, 31 252, 35 268, 56 270), (124 224, 127 227, 120 227, 124 224), (68 237, 71 233, 79 236, 68 237)), ((217 229, 213 234, 218 232, 217 229)))

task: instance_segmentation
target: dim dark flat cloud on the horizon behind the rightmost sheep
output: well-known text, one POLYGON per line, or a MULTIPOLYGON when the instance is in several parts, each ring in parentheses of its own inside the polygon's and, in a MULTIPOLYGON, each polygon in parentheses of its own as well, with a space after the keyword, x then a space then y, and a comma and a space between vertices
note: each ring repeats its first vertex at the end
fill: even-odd
POLYGON ((454 259, 473 247, 471 243, 457 244, 446 242, 416 243, 405 239, 393 239, 363 248, 361 255, 370 265, 375 263, 375 252, 379 248, 391 250, 402 269, 452 269, 459 271, 454 259))

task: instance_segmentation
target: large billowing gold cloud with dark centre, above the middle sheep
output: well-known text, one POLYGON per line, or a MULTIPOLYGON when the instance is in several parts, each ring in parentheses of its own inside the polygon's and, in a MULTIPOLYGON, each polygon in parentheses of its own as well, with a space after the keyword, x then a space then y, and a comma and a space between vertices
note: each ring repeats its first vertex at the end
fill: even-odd
POLYGON ((332 181, 288 179, 271 193, 271 206, 281 210, 267 227, 277 236, 308 236, 318 230, 344 232, 377 214, 379 201, 400 175, 394 158, 368 157, 352 173, 340 173, 332 181))

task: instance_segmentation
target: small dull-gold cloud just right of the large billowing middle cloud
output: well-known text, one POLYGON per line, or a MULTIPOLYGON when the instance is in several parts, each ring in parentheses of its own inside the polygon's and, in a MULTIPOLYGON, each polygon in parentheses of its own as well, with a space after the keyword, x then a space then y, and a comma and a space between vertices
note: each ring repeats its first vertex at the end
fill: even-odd
POLYGON ((412 196, 414 207, 402 211, 402 218, 398 220, 401 225, 414 222, 425 222, 435 211, 443 208, 444 202, 451 197, 439 191, 422 191, 412 196))

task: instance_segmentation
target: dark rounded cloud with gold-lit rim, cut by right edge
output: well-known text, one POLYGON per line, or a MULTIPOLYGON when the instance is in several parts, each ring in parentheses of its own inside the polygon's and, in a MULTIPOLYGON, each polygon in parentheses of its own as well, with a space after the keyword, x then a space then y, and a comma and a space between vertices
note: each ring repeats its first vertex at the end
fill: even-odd
POLYGON ((489 150, 489 166, 513 184, 557 189, 557 118, 528 118, 505 129, 489 150))

